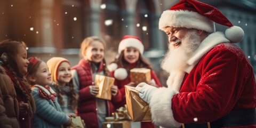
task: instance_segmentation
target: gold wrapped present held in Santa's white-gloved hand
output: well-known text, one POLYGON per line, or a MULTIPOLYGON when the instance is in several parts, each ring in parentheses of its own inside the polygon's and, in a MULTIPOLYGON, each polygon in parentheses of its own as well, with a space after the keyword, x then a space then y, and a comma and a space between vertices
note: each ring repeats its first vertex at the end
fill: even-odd
POLYGON ((151 121, 149 104, 140 98, 139 93, 135 87, 125 85, 127 113, 133 122, 149 122, 151 121))

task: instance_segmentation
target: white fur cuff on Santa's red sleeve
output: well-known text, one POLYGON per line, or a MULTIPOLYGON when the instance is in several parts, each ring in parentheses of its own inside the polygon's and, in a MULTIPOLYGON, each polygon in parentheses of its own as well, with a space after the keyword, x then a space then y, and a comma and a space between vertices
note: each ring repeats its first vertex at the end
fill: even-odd
POLYGON ((181 123, 175 121, 172 113, 172 98, 177 91, 159 88, 149 102, 151 109, 152 121, 154 124, 163 127, 180 127, 181 123))

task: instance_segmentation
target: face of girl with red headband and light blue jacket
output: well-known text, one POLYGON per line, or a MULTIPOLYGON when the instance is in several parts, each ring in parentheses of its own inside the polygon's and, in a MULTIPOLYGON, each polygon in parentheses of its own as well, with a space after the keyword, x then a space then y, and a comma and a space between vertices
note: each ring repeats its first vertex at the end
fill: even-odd
POLYGON ((41 62, 35 73, 35 83, 41 86, 52 83, 51 73, 45 62, 41 62))

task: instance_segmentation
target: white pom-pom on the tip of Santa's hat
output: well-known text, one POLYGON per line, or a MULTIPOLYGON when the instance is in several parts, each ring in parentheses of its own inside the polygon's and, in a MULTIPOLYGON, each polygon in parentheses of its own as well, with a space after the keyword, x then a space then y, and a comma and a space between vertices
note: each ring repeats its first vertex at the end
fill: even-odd
POLYGON ((225 35, 231 43, 237 43, 244 38, 244 30, 238 26, 232 26, 225 31, 225 35))

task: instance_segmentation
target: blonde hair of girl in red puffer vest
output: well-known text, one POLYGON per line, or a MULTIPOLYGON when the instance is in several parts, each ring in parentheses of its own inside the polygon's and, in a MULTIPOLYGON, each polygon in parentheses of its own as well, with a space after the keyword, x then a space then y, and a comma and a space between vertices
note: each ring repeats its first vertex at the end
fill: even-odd
MULTIPOLYGON (((84 39, 84 41, 81 43, 81 48, 80 48, 80 53, 79 56, 81 58, 84 58, 85 56, 85 51, 87 48, 92 44, 93 41, 99 41, 100 43, 103 44, 104 48, 106 47, 105 42, 98 36, 90 36, 84 39)), ((106 60, 103 58, 102 62, 105 64, 103 67, 104 75, 109 76, 109 70, 107 68, 106 60)))

